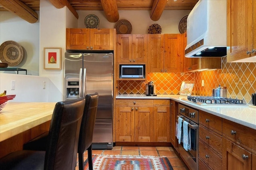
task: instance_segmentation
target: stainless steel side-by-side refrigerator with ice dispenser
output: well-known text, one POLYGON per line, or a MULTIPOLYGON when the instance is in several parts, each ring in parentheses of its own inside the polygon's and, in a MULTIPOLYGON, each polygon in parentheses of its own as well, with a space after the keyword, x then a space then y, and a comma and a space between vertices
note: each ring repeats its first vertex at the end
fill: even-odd
POLYGON ((112 149, 113 54, 65 53, 65 100, 98 92, 93 149, 112 149))

